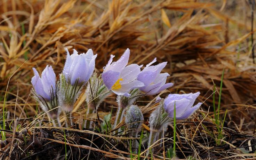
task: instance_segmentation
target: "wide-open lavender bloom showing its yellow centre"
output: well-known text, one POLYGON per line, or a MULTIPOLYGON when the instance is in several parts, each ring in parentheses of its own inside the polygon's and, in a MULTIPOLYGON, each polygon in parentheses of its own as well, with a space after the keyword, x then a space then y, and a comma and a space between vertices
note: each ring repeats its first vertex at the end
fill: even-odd
POLYGON ((113 62, 113 55, 110 56, 110 60, 107 63, 102 73, 102 80, 106 87, 112 90, 117 95, 123 95, 129 97, 129 91, 134 88, 143 87, 144 84, 138 81, 136 78, 141 72, 141 67, 137 64, 128 64, 130 56, 130 50, 127 48, 125 53, 118 59, 117 62, 113 62))

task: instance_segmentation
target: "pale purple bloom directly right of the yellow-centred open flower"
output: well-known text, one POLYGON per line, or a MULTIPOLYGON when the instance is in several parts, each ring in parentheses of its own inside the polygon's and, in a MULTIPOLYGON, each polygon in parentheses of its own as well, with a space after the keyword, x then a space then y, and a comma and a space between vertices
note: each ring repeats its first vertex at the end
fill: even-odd
POLYGON ((137 77, 137 80, 144 83, 144 86, 140 87, 139 89, 147 95, 158 94, 161 91, 173 86, 173 83, 166 83, 166 79, 169 74, 160 73, 161 70, 166 66, 167 62, 151 66, 156 61, 157 58, 147 64, 137 77))

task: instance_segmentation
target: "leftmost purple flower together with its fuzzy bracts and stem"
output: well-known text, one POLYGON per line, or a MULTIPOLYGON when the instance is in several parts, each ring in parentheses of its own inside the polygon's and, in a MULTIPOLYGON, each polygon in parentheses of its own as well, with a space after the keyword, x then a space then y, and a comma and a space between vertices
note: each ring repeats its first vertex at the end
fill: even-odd
POLYGON ((60 114, 57 101, 56 75, 53 67, 46 66, 42 72, 42 76, 35 68, 33 68, 34 77, 31 79, 33 85, 32 92, 34 98, 39 102, 43 111, 45 111, 51 119, 57 119, 60 114))

